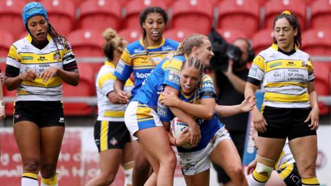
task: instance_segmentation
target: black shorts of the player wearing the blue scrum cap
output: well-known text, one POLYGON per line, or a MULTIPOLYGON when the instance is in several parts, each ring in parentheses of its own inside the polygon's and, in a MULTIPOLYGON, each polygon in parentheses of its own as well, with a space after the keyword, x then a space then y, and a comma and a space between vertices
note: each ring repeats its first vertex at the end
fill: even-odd
POLYGON ((14 124, 31 121, 39 128, 66 126, 61 101, 16 101, 13 118, 14 124))

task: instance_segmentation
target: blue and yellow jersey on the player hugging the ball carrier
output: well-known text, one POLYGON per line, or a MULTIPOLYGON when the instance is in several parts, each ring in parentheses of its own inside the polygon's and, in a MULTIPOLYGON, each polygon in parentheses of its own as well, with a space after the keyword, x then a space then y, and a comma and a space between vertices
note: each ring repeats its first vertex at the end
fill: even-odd
POLYGON ((142 83, 131 101, 139 101, 156 110, 159 98, 157 92, 163 92, 165 85, 180 90, 179 78, 183 61, 185 61, 185 56, 172 56, 171 59, 165 59, 159 63, 142 83))

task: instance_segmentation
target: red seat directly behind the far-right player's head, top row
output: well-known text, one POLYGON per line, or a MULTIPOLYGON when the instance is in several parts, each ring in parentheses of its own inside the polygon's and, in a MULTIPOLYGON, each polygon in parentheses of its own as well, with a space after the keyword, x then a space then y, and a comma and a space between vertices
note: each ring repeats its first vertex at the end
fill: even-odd
POLYGON ((305 29, 306 4, 301 0, 271 0, 265 3, 264 27, 273 28, 274 18, 284 10, 297 15, 301 28, 305 29))

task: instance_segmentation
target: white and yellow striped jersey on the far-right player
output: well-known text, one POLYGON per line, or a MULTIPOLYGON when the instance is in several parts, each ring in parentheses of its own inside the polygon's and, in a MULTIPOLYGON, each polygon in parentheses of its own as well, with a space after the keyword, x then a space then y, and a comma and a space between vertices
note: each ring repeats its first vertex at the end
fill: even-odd
POLYGON ((270 107, 310 107, 308 81, 314 81, 310 56, 299 50, 285 54, 277 44, 254 59, 248 82, 265 87, 263 105, 270 107))

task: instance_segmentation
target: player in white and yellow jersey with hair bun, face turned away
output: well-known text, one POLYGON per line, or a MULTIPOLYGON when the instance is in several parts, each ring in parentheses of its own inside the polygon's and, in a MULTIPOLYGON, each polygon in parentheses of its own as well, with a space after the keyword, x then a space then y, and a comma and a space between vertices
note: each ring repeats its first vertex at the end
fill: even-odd
MULTIPOLYGON (((127 42, 111 28, 103 32, 103 53, 108 61, 101 67, 97 75, 98 118, 94 124, 94 141, 99 149, 100 176, 89 180, 86 186, 110 185, 117 174, 119 165, 125 173, 125 186, 132 185, 133 157, 131 138, 126 124, 124 112, 126 105, 119 104, 114 92, 115 67, 127 42)), ((124 90, 130 92, 133 83, 126 82, 124 90)))

